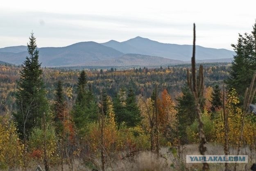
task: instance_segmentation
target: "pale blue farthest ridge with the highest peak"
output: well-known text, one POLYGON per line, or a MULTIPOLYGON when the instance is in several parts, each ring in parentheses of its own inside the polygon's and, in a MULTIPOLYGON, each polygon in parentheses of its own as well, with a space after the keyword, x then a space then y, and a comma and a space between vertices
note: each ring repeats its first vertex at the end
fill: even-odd
MULTIPOLYGON (((148 38, 142 38, 139 36, 124 42, 112 40, 106 43, 102 43, 102 45, 112 47, 125 54, 145 54, 150 56, 161 56, 164 58, 171 58, 183 61, 190 60, 192 54, 192 45, 159 43, 157 41, 152 41, 148 38)), ((220 59, 232 58, 234 52, 225 49, 214 49, 196 46, 196 55, 198 60, 220 59)))

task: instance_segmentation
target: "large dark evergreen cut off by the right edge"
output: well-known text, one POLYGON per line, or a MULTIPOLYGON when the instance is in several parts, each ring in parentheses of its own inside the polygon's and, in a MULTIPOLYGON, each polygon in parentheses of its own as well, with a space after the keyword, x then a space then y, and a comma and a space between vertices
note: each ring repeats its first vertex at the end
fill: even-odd
POLYGON ((228 88, 235 88, 242 97, 256 72, 256 23, 251 34, 239 34, 238 43, 231 46, 236 55, 232 62, 230 78, 226 83, 228 88))

